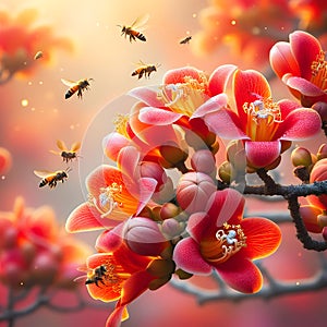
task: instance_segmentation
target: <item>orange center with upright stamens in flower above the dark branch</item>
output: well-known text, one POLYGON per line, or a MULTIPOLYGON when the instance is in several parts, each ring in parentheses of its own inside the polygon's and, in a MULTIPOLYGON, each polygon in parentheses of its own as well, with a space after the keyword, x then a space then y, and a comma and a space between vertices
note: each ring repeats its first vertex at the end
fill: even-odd
POLYGON ((243 110, 247 114, 246 135, 252 141, 271 141, 282 122, 278 104, 271 98, 245 102, 243 110))

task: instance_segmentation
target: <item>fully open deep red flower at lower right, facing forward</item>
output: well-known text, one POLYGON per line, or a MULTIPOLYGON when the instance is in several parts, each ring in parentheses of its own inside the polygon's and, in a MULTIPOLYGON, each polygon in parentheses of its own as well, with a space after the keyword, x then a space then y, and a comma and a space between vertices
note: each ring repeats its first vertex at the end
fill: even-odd
POLYGON ((196 275, 209 275, 216 269, 231 288, 257 292, 263 277, 252 261, 272 254, 281 233, 268 219, 243 219, 244 202, 234 190, 215 192, 206 211, 191 215, 186 228, 190 238, 174 249, 177 266, 196 275))

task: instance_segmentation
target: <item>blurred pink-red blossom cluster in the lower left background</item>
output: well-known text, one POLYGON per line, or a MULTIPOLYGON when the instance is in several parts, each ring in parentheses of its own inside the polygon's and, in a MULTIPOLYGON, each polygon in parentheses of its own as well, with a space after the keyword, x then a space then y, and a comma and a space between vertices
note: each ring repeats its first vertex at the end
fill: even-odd
POLYGON ((89 253, 86 244, 59 229, 48 206, 28 208, 17 197, 12 211, 0 211, 0 281, 12 290, 74 289, 76 269, 89 253))

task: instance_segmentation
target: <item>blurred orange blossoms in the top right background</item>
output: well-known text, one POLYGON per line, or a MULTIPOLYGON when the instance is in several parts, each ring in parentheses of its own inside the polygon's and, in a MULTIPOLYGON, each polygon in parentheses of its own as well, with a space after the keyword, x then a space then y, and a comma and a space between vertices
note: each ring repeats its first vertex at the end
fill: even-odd
POLYGON ((326 41, 327 4, 323 0, 219 0, 199 12, 202 29, 192 48, 208 53, 227 45, 243 62, 266 63, 271 46, 294 28, 326 41))

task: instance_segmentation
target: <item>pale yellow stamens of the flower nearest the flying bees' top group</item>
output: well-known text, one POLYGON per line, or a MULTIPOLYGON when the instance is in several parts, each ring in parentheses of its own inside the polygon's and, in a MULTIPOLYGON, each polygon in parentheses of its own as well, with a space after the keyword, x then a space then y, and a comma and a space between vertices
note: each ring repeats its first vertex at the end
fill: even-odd
POLYGON ((205 102, 206 86, 205 75, 202 76, 201 82, 185 76, 184 83, 161 86, 158 98, 172 111, 191 117, 205 102))

